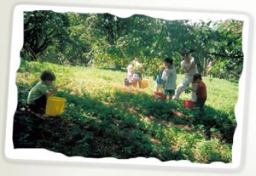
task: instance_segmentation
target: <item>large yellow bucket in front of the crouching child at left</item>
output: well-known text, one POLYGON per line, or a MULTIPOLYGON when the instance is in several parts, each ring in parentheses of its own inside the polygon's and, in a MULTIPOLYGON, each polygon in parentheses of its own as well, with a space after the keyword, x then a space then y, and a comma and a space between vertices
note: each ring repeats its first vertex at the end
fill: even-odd
POLYGON ((67 99, 50 96, 47 99, 45 114, 48 116, 60 116, 64 110, 67 99))

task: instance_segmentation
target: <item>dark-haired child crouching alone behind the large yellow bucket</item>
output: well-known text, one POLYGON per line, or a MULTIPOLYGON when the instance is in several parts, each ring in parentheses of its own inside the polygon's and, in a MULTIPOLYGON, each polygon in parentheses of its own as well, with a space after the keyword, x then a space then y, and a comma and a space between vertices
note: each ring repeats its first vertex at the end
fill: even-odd
POLYGON ((43 71, 41 74, 41 82, 34 86, 27 96, 27 104, 31 111, 44 113, 47 98, 57 92, 57 88, 49 90, 48 87, 55 81, 53 71, 43 71))

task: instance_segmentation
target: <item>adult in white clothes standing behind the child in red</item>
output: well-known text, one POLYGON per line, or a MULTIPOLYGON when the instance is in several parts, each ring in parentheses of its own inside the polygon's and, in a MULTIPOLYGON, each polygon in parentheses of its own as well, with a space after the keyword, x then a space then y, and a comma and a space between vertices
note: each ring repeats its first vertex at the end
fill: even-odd
MULTIPOLYGON (((181 68, 184 71, 184 78, 183 81, 180 82, 180 84, 177 86, 176 94, 174 99, 179 99, 180 94, 183 93, 183 91, 189 87, 189 84, 192 83, 192 89, 195 90, 197 83, 193 82, 193 77, 195 73, 198 73, 197 67, 195 65, 194 58, 191 57, 191 53, 193 51, 189 52, 183 52, 183 60, 181 61, 181 68)), ((191 92, 191 101, 196 101, 196 94, 195 91, 191 92)))

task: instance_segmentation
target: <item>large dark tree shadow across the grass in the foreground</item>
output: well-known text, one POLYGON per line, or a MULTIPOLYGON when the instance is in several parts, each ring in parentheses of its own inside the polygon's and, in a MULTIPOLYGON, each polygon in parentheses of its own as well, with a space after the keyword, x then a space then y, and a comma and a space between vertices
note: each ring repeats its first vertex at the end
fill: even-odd
MULTIPOLYGON (((14 116, 13 141, 17 148, 44 148, 66 156, 155 157, 160 161, 197 162, 192 150, 172 150, 172 136, 164 128, 174 125, 188 133, 201 130, 210 138, 232 143, 236 124, 228 115, 206 107, 205 116, 183 109, 181 101, 154 102, 153 95, 116 90, 109 102, 59 92, 67 99, 61 116, 41 118, 27 111, 27 85, 19 85, 18 107, 14 116), (208 114, 209 113, 209 114, 208 114)), ((204 161, 214 162, 214 161, 204 161)))

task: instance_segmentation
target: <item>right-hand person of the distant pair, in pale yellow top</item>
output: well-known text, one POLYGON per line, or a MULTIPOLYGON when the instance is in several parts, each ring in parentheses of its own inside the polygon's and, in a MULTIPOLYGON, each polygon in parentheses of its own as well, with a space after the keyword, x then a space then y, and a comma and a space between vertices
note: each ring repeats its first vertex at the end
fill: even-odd
POLYGON ((132 75, 133 86, 137 87, 137 83, 138 83, 139 88, 142 88, 142 81, 143 81, 143 77, 145 77, 145 75, 144 75, 144 71, 143 71, 143 64, 140 63, 137 60, 137 58, 135 58, 132 61, 131 71, 133 72, 133 75, 132 75))

